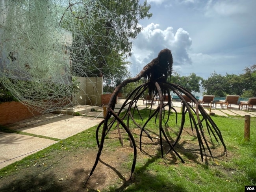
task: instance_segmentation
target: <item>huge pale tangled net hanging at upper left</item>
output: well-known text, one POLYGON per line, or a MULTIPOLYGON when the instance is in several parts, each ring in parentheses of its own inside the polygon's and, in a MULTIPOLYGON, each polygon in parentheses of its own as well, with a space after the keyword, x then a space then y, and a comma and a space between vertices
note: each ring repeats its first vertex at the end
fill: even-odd
POLYGON ((110 20, 118 25, 97 0, 0 0, 0 81, 35 111, 77 103, 85 89, 77 76, 115 66, 120 39, 110 20))

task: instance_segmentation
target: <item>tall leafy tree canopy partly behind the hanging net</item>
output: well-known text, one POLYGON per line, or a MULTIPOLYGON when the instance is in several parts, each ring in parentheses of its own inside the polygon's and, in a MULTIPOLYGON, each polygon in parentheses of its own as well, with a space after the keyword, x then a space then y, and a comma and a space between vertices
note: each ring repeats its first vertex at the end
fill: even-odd
POLYGON ((142 30, 139 20, 150 18, 152 14, 149 13, 150 5, 147 5, 147 1, 139 4, 139 0, 98 0, 96 4, 90 13, 86 1, 70 4, 64 15, 83 17, 73 17, 73 20, 63 17, 61 26, 71 32, 76 31, 73 33, 76 44, 71 48, 72 60, 86 67, 74 70, 85 70, 87 76, 106 77, 113 72, 117 73, 116 69, 123 65, 123 55, 131 55, 132 40, 142 30), (88 15, 94 18, 89 27, 87 24, 91 21, 88 15), (76 27, 70 25, 70 22, 75 22, 76 27), (80 34, 77 33, 78 29, 82 31, 80 34), (81 37, 84 40, 77 41, 81 37), (88 61, 88 54, 94 58, 92 61, 88 61))

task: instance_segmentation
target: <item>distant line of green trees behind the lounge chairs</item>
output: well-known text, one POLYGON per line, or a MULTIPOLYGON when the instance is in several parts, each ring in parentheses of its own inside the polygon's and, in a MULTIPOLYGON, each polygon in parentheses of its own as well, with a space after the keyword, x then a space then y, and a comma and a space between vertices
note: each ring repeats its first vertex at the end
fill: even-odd
POLYGON ((171 83, 182 85, 189 91, 200 92, 203 87, 204 95, 224 97, 226 95, 240 95, 241 97, 256 97, 256 65, 246 67, 242 74, 228 74, 225 76, 213 72, 208 79, 203 79, 191 73, 189 76, 180 76, 173 72, 169 79, 171 83))

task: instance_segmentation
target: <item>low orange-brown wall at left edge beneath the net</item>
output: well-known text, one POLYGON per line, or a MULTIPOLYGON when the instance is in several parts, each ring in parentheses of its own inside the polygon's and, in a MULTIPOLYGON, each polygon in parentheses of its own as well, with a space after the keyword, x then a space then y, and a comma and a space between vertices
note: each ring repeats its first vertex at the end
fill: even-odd
POLYGON ((20 102, 0 103, 0 125, 2 126, 6 126, 39 114, 39 112, 31 113, 28 110, 28 107, 20 102))

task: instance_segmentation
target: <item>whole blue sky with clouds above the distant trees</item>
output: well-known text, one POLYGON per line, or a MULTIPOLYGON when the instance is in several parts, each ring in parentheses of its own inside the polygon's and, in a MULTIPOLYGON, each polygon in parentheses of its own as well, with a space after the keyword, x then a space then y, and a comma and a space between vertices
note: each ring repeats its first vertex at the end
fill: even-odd
MULTIPOLYGON (((141 4, 144 1, 140 1, 141 4)), ((148 0, 150 19, 133 42, 132 76, 160 50, 173 53, 173 69, 208 79, 242 74, 256 64, 256 0, 148 0)))

